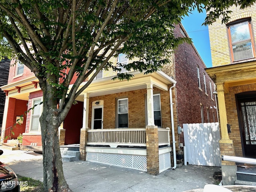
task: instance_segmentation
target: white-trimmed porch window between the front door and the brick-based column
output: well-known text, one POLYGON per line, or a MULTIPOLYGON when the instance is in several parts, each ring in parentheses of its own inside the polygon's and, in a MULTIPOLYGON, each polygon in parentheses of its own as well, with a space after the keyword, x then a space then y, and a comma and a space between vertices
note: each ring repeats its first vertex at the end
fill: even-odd
POLYGON ((117 100, 117 128, 128 128, 128 98, 117 100))

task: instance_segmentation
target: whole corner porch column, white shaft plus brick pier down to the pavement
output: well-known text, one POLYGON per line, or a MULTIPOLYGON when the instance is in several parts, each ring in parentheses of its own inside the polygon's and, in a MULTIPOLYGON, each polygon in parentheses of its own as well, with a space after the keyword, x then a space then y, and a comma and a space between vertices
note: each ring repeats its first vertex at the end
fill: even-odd
POLYGON ((158 128, 154 124, 154 100, 153 84, 147 85, 147 117, 146 146, 147 146, 147 172, 148 174, 159 174, 159 149, 158 149, 158 128))

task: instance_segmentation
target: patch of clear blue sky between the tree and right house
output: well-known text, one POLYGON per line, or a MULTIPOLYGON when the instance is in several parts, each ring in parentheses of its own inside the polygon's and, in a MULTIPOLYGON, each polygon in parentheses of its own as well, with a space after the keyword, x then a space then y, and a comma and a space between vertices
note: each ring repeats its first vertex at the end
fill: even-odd
POLYGON ((192 38, 193 44, 206 67, 212 67, 208 26, 202 26, 205 18, 205 11, 203 13, 198 13, 196 10, 192 12, 192 14, 188 14, 188 16, 182 20, 182 25, 188 36, 192 38))

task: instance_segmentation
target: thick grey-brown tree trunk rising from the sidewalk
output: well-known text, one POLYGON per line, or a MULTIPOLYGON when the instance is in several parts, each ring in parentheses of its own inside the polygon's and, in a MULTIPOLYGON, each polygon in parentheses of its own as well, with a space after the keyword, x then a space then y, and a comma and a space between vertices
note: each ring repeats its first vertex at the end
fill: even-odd
POLYGON ((40 116, 43 151, 43 172, 45 192, 68 192, 70 188, 64 178, 60 154, 58 127, 59 111, 52 86, 43 90, 44 104, 40 116), (49 88, 50 87, 50 88, 49 88), (50 90, 49 90, 50 89, 50 90), (47 91, 46 91, 47 90, 47 91), (53 94, 50 94, 50 93, 53 94))

